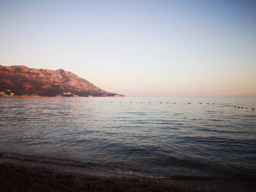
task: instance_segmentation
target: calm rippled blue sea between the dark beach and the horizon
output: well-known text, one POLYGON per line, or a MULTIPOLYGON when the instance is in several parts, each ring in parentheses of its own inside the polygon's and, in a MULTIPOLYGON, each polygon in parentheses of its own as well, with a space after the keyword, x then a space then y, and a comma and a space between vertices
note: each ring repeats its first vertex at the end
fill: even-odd
POLYGON ((0 156, 255 182, 255 107, 256 98, 0 98, 0 156))

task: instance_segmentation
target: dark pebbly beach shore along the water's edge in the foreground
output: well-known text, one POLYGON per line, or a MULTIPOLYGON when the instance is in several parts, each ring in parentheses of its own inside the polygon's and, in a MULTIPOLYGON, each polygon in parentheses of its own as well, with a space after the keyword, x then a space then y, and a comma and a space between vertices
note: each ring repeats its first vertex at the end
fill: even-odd
POLYGON ((212 183, 203 178, 157 179, 97 169, 0 158, 0 191, 253 192, 253 185, 212 183))

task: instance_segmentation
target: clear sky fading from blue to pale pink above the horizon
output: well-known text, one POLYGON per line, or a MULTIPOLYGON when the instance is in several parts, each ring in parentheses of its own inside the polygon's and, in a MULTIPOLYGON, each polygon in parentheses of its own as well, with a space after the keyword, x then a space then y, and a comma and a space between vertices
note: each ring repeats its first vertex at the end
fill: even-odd
POLYGON ((256 1, 0 0, 0 65, 126 96, 256 96, 256 1))

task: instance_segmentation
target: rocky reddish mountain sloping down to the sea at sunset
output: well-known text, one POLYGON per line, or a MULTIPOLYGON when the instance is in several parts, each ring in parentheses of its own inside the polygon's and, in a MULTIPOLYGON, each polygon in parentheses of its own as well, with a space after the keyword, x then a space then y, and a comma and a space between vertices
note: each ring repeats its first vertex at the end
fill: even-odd
POLYGON ((38 96, 124 96, 102 90, 63 69, 31 69, 23 65, 0 65, 1 92, 38 96))

